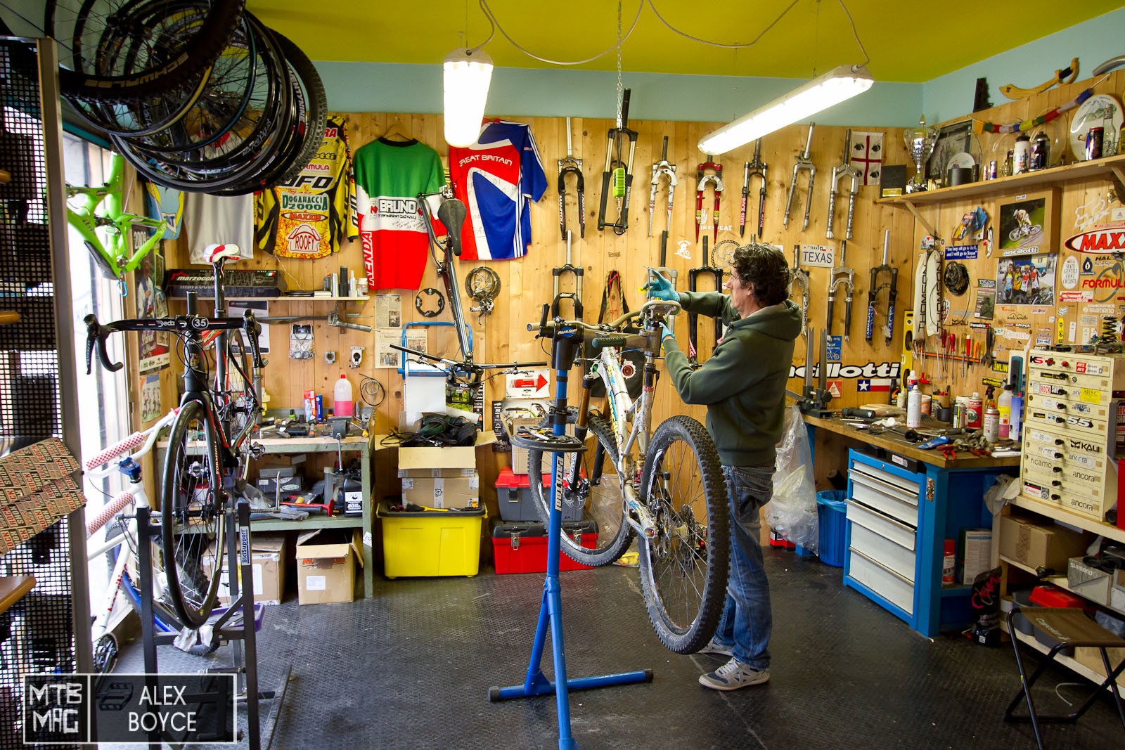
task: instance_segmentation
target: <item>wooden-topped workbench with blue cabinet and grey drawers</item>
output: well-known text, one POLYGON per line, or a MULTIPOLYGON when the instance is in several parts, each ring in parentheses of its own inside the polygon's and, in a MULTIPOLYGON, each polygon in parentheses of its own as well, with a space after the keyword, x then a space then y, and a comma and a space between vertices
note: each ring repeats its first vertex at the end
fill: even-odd
POLYGON ((965 528, 992 527, 983 495, 997 475, 1019 472, 1019 455, 958 452, 947 459, 894 433, 871 435, 839 419, 806 416, 804 422, 813 451, 818 430, 854 441, 847 466, 844 585, 926 636, 969 625, 972 587, 943 586, 944 542, 965 528))

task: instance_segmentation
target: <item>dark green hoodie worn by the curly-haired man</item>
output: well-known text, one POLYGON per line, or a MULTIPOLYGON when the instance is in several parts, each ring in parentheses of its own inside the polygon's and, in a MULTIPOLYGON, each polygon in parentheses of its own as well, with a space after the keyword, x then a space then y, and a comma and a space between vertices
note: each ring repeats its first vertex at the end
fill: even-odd
POLYGON ((785 423, 785 386, 801 310, 784 300, 741 318, 730 297, 717 291, 680 292, 688 313, 720 318, 727 333, 698 370, 674 341, 664 363, 685 404, 706 404, 706 428, 723 466, 772 466, 785 423))

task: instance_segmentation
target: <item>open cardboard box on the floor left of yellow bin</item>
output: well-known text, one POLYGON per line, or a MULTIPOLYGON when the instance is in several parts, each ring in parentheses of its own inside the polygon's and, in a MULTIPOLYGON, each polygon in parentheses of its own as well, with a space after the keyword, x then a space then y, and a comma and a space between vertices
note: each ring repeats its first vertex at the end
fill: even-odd
POLYGON ((313 531, 297 537, 297 602, 331 604, 351 602, 356 588, 356 561, 363 564, 359 530, 313 531))

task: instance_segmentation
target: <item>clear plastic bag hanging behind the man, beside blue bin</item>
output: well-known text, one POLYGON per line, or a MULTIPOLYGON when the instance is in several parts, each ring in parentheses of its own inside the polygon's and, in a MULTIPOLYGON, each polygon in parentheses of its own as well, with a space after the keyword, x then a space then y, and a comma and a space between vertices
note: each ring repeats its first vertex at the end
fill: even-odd
POLYGON ((773 499, 765 506, 770 527, 789 542, 817 551, 820 527, 817 522, 817 487, 812 479, 812 451, 801 410, 785 412, 785 430, 777 443, 773 499))

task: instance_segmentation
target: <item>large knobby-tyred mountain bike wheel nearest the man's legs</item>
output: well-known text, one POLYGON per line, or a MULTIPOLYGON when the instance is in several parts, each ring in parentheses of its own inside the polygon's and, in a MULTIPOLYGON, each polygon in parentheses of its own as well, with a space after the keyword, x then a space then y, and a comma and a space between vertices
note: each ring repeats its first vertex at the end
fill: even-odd
POLYGON ((706 430, 685 416, 652 433, 641 497, 656 522, 638 537, 640 581, 657 636, 676 653, 699 651, 719 624, 727 591, 727 482, 706 430))

